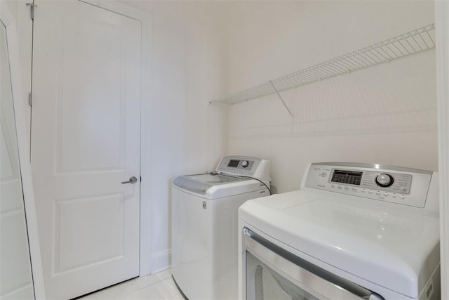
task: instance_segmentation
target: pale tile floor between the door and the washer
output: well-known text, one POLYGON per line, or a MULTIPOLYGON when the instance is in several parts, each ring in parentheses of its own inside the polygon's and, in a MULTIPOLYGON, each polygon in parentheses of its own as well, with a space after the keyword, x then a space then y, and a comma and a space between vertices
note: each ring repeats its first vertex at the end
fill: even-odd
POLYGON ((77 300, 184 300, 177 290, 171 270, 134 278, 101 289, 77 300))

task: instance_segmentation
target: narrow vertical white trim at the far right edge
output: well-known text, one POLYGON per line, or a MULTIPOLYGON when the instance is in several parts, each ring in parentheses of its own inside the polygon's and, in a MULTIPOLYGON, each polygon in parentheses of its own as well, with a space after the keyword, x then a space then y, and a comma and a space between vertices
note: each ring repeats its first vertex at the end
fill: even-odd
POLYGON ((441 299, 449 299, 449 1, 435 2, 441 299))

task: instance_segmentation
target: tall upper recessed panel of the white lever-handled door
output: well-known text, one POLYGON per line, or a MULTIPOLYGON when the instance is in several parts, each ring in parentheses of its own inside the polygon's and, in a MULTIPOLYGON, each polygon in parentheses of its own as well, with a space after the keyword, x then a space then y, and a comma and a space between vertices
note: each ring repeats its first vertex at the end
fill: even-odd
POLYGON ((121 170, 126 86, 122 34, 104 22, 70 15, 62 35, 74 39, 62 41, 58 173, 121 170), (98 76, 98 70, 104 73, 98 76))

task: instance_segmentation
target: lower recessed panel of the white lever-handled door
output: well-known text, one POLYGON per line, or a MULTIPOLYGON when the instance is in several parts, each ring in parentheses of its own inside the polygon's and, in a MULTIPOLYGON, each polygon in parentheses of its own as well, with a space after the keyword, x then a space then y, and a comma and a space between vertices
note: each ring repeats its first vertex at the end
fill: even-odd
POLYGON ((55 205, 55 274, 123 256, 123 197, 62 200, 55 205), (101 216, 101 223, 98 222, 101 216), (95 224, 97 230, 90 230, 95 224), (101 242, 97 242, 101 241, 101 242))

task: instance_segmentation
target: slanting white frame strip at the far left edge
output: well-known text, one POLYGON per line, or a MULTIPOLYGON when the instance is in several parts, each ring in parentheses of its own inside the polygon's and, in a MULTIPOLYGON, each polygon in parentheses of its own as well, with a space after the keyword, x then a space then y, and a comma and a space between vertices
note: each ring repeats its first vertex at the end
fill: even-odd
POLYGON ((11 71, 11 85, 14 102, 15 128, 17 131, 18 152, 20 160, 20 173, 22 176, 22 190, 27 218, 27 232, 29 241, 29 254, 31 257, 34 297, 46 299, 43 285, 43 268, 41 263, 41 248, 39 246, 39 233, 37 230, 36 207, 32 182, 31 164, 29 163, 29 138, 25 124, 25 101, 22 93, 22 80, 20 76, 20 59, 18 35, 15 21, 6 6, 0 1, 0 20, 6 27, 8 39, 8 58, 11 71))

